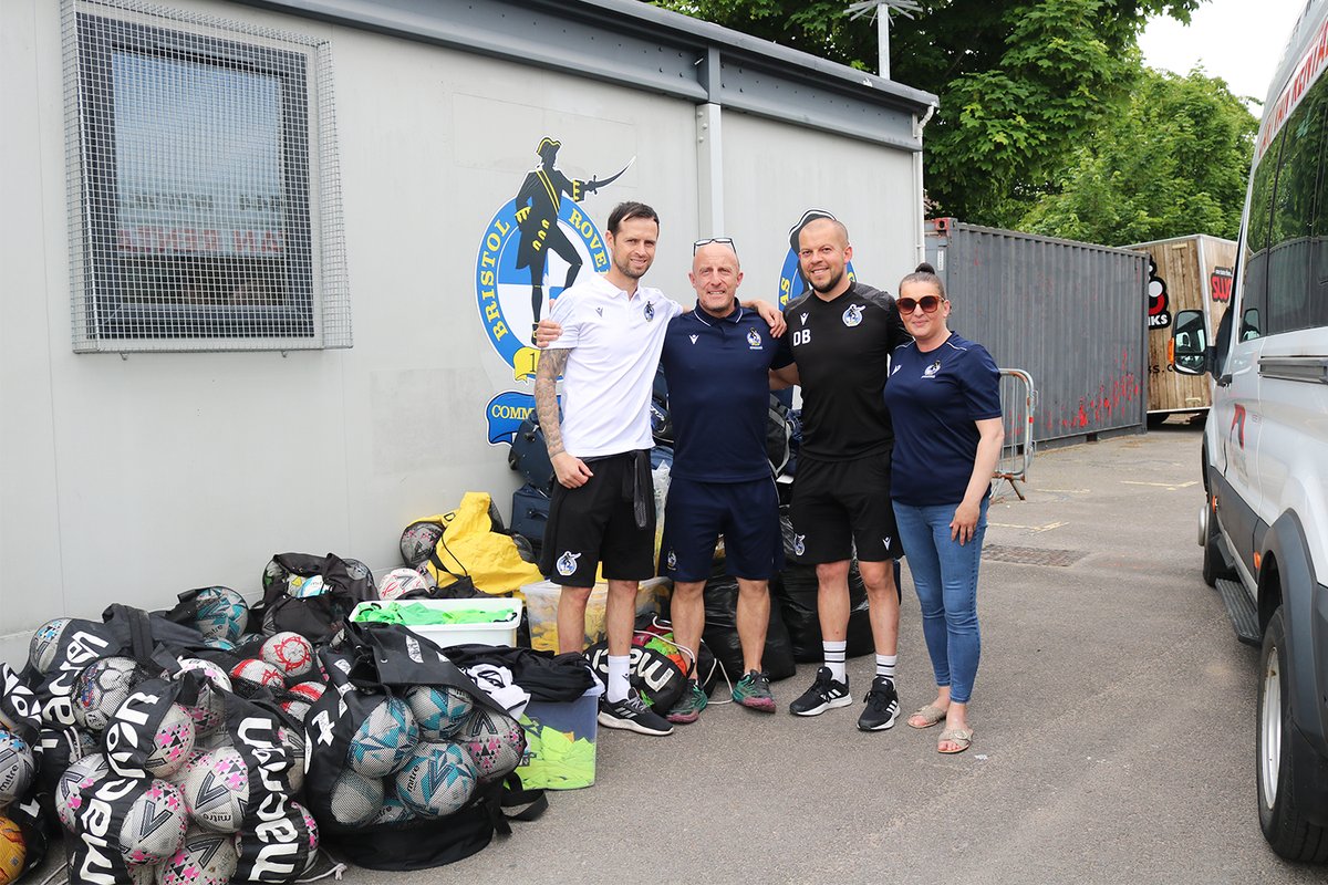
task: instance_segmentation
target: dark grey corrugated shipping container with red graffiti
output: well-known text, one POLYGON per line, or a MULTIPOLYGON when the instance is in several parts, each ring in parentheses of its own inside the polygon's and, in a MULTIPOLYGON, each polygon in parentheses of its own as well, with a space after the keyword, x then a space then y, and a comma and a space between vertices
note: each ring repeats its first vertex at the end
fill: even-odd
POLYGON ((1033 439, 1142 427, 1147 257, 1139 252, 930 223, 927 252, 952 301, 950 328, 1032 374, 1033 439))

